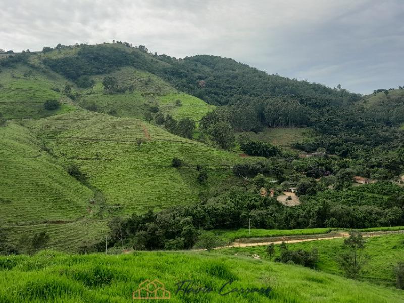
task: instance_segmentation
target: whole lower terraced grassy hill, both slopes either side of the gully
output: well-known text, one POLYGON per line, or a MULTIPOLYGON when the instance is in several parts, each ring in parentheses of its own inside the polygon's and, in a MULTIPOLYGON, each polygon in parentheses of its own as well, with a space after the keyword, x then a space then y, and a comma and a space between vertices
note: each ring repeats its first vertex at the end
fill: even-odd
POLYGON ((250 161, 134 118, 76 110, 19 123, 0 127, 0 163, 7 176, 0 182, 0 223, 12 243, 46 230, 50 247, 77 251, 83 241, 102 238, 112 216, 192 203, 200 192, 226 190, 239 182, 230 165, 250 161), (184 165, 171 167, 174 157, 184 165), (67 173, 71 164, 87 174, 86 184, 67 173), (205 184, 197 181, 197 164, 208 173, 205 184))

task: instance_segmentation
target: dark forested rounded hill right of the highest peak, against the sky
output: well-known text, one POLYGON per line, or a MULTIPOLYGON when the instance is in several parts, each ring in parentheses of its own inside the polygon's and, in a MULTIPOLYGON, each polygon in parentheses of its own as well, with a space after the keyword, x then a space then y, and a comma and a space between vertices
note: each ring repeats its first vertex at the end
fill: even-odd
POLYGON ((231 104, 237 100, 237 96, 269 98, 287 95, 299 97, 303 103, 315 99, 326 104, 358 100, 360 97, 344 89, 331 89, 323 84, 269 75, 219 56, 197 55, 180 61, 164 55, 158 58, 168 58, 166 61, 171 63, 164 69, 169 81, 208 103, 231 104))

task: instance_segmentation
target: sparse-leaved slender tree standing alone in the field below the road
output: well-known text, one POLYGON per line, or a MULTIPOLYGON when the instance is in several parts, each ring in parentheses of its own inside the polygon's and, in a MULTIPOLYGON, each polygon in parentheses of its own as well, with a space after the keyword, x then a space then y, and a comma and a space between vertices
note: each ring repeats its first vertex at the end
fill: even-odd
POLYGON ((362 235, 356 231, 349 232, 349 238, 344 240, 343 250, 338 261, 341 268, 345 271, 348 278, 357 279, 365 264, 365 257, 362 251, 365 248, 365 240, 362 235))

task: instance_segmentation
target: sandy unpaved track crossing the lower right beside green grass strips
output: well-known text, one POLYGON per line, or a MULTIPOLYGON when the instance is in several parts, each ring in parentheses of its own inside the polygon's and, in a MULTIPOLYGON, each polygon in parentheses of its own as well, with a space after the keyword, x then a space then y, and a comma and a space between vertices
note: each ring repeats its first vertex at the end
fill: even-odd
MULTIPOLYGON (((396 230, 396 231, 375 231, 375 232, 361 232, 363 237, 377 237, 383 235, 391 235, 391 234, 404 234, 404 230, 396 230)), ((252 247, 252 246, 266 246, 271 243, 274 244, 281 244, 282 242, 285 243, 300 243, 300 242, 309 242, 309 241, 317 241, 317 240, 331 240, 331 239, 338 239, 338 238, 347 238, 349 237, 348 232, 338 232, 334 234, 319 234, 318 237, 314 238, 313 235, 311 237, 301 236, 299 239, 296 239, 295 236, 285 236, 285 237, 274 237, 277 240, 274 241, 266 241, 266 242, 251 242, 251 243, 242 243, 242 242, 233 242, 231 245, 223 246, 223 247, 216 247, 214 249, 222 249, 222 248, 232 248, 232 247, 252 247), (282 240, 279 240, 282 238, 282 240)), ((270 239, 270 238, 268 238, 270 239)), ((247 239, 238 239, 239 240, 247 240, 247 239)))

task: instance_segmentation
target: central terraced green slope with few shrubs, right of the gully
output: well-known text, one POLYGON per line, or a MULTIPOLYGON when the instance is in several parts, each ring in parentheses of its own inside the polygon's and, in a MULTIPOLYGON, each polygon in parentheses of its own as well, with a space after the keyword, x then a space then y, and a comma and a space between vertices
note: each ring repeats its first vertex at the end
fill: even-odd
POLYGON ((76 163, 107 203, 124 207, 124 213, 196 201, 207 186, 196 180, 197 164, 208 170, 209 186, 230 178, 231 163, 245 161, 133 118, 82 111, 24 123, 64 164, 76 163), (144 141, 141 146, 137 139, 144 141), (173 158, 184 166, 171 167, 173 158))

